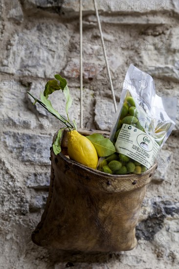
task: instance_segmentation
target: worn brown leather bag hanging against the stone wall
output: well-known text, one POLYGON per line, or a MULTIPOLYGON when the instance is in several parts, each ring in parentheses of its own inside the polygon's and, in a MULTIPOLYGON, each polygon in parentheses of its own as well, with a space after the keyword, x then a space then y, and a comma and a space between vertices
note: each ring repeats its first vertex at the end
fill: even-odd
POLYGON ((49 195, 33 242, 74 251, 133 249, 139 210, 156 166, 141 175, 115 176, 80 165, 66 153, 65 147, 58 156, 51 149, 49 195))

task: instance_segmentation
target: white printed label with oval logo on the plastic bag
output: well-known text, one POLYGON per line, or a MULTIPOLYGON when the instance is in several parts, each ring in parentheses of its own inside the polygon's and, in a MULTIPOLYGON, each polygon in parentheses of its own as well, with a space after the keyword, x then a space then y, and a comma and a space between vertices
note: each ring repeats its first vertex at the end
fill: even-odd
POLYGON ((129 124, 123 124, 115 148, 118 153, 134 159, 149 169, 154 165, 160 147, 150 135, 129 124))

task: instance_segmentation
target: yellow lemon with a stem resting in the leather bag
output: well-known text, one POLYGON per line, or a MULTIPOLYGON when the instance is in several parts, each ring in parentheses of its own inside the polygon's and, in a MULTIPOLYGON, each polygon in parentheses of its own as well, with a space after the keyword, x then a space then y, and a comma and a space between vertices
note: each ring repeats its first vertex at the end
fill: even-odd
POLYGON ((85 166, 96 169, 98 165, 97 152, 90 140, 76 130, 67 133, 68 155, 85 166))

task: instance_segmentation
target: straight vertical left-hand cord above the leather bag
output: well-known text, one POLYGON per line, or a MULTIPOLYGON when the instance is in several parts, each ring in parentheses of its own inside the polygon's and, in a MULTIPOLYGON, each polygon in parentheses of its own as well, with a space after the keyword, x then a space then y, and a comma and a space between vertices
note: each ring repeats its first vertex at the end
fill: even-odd
POLYGON ((80 0, 80 128, 83 128, 83 21, 80 0))

